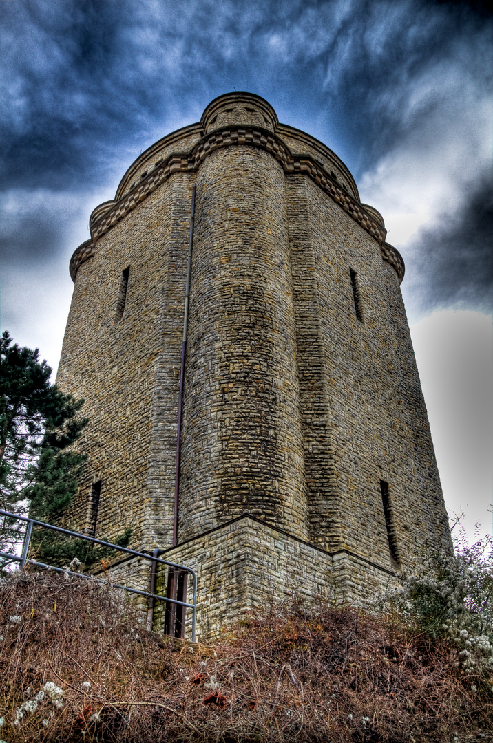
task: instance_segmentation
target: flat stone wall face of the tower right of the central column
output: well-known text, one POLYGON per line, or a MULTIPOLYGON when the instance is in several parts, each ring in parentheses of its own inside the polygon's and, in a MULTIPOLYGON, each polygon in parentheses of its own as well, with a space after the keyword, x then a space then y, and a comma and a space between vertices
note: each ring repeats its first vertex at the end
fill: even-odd
MULTIPOLYGON (((449 539, 445 507, 436 499, 433 444, 398 278, 382 261, 376 241, 312 181, 306 179, 304 196, 297 190, 293 199, 308 202, 303 229, 307 247, 315 252, 312 273, 321 331, 310 354, 322 359, 328 487, 336 504, 338 544, 390 567, 380 480, 389 484, 402 562, 422 545, 425 533, 434 540, 449 539), (425 521, 428 510, 434 510, 434 519, 425 521)), ((301 360, 304 369, 314 368, 311 357, 301 360)), ((312 482, 315 507, 309 499, 312 539, 320 544, 320 518, 327 510, 322 484, 321 478, 312 482)), ((336 546, 325 542, 331 551, 336 546)))

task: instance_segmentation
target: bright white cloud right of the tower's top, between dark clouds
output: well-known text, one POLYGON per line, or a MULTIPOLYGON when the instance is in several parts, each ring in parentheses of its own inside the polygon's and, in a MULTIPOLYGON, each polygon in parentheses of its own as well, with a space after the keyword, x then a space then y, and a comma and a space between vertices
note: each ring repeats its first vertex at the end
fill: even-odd
POLYGON ((492 165, 492 101, 469 75, 440 62, 401 103, 406 131, 359 184, 361 200, 381 211, 395 245, 453 215, 492 165))

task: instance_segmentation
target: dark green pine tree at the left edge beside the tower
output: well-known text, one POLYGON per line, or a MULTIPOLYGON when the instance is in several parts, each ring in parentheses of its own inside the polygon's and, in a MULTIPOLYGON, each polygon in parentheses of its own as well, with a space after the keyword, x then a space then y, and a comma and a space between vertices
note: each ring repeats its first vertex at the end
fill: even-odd
MULTIPOLYGON (((50 382, 39 352, 0 339, 0 507, 53 521, 71 502, 85 455, 67 450, 87 423, 83 400, 50 382)), ((13 554, 24 526, 0 518, 0 551, 13 554)), ((8 562, 5 558, 3 564, 8 562)), ((0 562, 0 565, 2 564, 0 562)))

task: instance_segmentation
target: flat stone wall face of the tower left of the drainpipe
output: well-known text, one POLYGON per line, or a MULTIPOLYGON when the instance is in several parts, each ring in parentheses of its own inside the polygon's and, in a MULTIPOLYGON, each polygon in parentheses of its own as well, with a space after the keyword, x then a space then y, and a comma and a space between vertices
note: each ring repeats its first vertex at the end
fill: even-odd
POLYGON ((179 364, 179 351, 170 350, 169 344, 173 345, 170 325, 176 322, 179 327, 181 320, 172 314, 168 325, 164 321, 163 293, 171 295, 173 311, 179 314, 173 278, 167 272, 173 262, 183 263, 182 253, 186 256, 185 210, 173 212, 178 195, 187 201, 182 191, 183 177, 167 181, 106 233, 97 242, 94 257, 80 266, 57 377, 61 389, 86 398, 83 412, 89 418, 77 444, 87 453, 88 463, 68 522, 78 530, 87 525, 91 484, 102 480, 96 536, 114 541, 125 528, 132 528, 136 548, 154 541, 149 535, 152 520, 159 523, 161 507, 164 511, 167 507, 164 500, 173 498, 172 486, 160 479, 173 478, 173 453, 168 453, 168 461, 164 453, 157 468, 155 461, 160 456, 156 435, 170 445, 164 429, 176 425, 176 395, 167 395, 165 384, 157 389, 156 380, 160 381, 165 362, 171 367, 179 364), (118 319, 117 299, 126 267, 126 302, 118 319), (160 395, 171 408, 168 415, 162 409, 156 412, 160 395))

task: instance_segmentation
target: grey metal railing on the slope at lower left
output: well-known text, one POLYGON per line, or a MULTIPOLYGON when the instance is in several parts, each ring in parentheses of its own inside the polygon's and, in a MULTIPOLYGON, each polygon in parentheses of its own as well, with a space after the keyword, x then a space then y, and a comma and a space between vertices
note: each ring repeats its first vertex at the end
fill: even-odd
MULTIPOLYGON (((19 516, 16 513, 10 513, 9 511, 0 510, 0 516, 7 516, 9 519, 16 519, 16 521, 22 521, 27 524, 26 532, 24 536, 24 542, 22 543, 22 552, 19 555, 13 555, 13 554, 7 554, 5 552, 0 552, 0 557, 6 557, 9 560, 14 560, 15 562, 21 563, 21 569, 24 568, 26 564, 28 565, 34 565, 34 567, 37 568, 48 568, 48 570, 55 570, 59 573, 67 573, 69 575, 76 575, 78 577, 88 578, 90 580, 94 580, 97 583, 105 583, 104 580, 100 580, 99 578, 95 578, 93 575, 88 575, 86 573, 76 573, 74 571, 68 570, 67 568, 57 568, 55 565, 46 565, 45 562, 37 562, 36 560, 29 559, 28 558, 28 552, 29 552, 29 545, 30 545, 30 536, 33 531, 33 525, 34 526, 40 526, 46 529, 51 529, 51 531, 57 531, 61 534, 67 534, 68 536, 75 536, 77 539, 86 539, 87 542, 93 542, 96 545, 101 545, 102 547, 109 547, 114 550, 118 550, 120 552, 126 552, 126 554, 132 555, 133 557, 141 557, 143 559, 149 560, 153 565, 155 565, 156 562, 161 562, 161 565, 167 565, 170 568, 175 568, 177 570, 183 570, 187 573, 190 573, 190 575, 193 577, 193 603, 187 603, 186 601, 178 601, 177 599, 168 598, 166 596, 161 596, 160 594, 154 594, 149 593, 148 591, 138 591, 137 588, 130 588, 129 585, 120 585, 119 583, 112 583, 112 585, 115 586, 115 588, 122 588, 123 591, 127 591, 130 594, 138 594, 138 596, 145 596, 147 598, 150 598, 152 600, 158 599, 159 601, 164 601, 166 603, 171 604, 179 604, 179 606, 184 606, 185 611, 187 609, 192 609, 192 642, 195 642, 195 636, 196 636, 196 620, 197 620, 197 576, 196 573, 191 568, 186 568, 184 565, 178 565, 176 562, 168 562, 165 559, 161 559, 160 557, 156 557, 155 555, 149 555, 145 552, 137 552, 135 550, 131 550, 128 547, 119 547, 118 545, 112 545, 111 542, 103 542, 102 539, 96 539, 95 536, 86 536, 86 534, 80 534, 77 533, 77 531, 69 531, 68 529, 62 529, 59 526, 54 526, 52 524, 45 524, 42 521, 36 521, 36 519, 28 519, 27 516, 19 516)), ((111 566, 110 566, 111 570, 111 566)))

